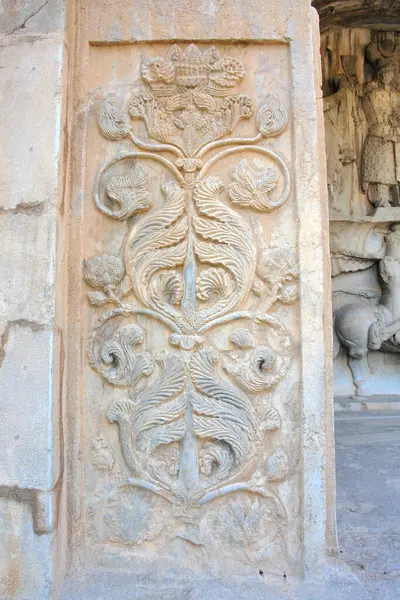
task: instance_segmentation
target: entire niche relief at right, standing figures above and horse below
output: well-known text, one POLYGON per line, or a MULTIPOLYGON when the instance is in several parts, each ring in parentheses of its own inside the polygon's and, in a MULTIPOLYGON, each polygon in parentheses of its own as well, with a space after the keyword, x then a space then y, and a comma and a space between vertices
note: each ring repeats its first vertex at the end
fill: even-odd
POLYGON ((325 67, 324 82, 334 353, 345 350, 357 396, 372 394, 368 352, 398 354, 400 325, 399 42, 368 35, 367 45, 357 30, 327 36, 336 72, 325 67))

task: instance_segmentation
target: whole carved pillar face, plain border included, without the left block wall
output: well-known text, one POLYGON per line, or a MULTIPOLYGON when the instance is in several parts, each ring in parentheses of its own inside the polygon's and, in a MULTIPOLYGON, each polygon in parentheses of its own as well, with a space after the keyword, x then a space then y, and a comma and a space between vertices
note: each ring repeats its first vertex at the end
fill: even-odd
POLYGON ((85 8, 75 570, 296 578, 335 545, 310 7, 85 8))

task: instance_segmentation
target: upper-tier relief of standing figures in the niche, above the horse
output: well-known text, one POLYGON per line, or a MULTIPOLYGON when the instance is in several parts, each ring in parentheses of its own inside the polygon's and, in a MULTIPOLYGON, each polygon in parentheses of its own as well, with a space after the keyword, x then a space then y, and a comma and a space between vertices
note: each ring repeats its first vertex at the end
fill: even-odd
POLYGON ((337 91, 324 98, 328 191, 333 211, 356 214, 370 206, 399 206, 400 52, 391 39, 365 51, 370 80, 360 83, 356 56, 341 56, 337 91))

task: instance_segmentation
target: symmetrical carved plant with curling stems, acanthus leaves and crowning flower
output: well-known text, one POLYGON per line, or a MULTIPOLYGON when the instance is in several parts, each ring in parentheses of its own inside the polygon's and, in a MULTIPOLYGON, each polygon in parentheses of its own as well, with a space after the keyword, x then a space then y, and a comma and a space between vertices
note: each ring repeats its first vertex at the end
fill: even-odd
POLYGON ((267 260, 268 249, 258 247, 242 210, 275 210, 288 198, 287 165, 270 147, 258 145, 279 135, 288 117, 271 92, 258 112, 259 133, 227 137, 253 114, 251 99, 232 93, 244 75, 240 61, 221 57, 215 48, 201 52, 175 45, 164 58, 142 65, 150 90, 131 98, 127 111, 109 101, 100 107, 102 134, 116 141, 129 137, 138 150, 100 169, 95 202, 108 217, 135 218, 123 260, 102 255, 85 262, 87 284, 101 290, 90 293, 90 302, 114 304, 92 329, 89 355, 104 379, 127 390, 107 416, 119 427, 132 475, 128 484, 189 505, 250 491, 274 499, 282 513, 267 487, 271 476, 256 471, 264 436, 279 429, 280 417, 271 406, 260 410, 255 397, 286 375, 290 339, 275 317, 240 307, 256 273, 272 286, 274 302, 296 297, 288 286, 284 291, 297 277, 293 252, 280 257, 271 249, 267 260), (137 120, 148 139, 134 133, 137 120), (205 161, 211 151, 217 153, 205 161), (226 188, 208 171, 238 152, 256 153, 258 159, 240 160, 226 188), (175 162, 164 154, 174 154, 175 162), (109 175, 114 165, 132 161, 125 174, 109 175), (160 203, 154 202, 154 186, 150 191, 151 161, 169 173, 160 185, 160 208, 152 208, 160 203), (129 295, 133 303, 124 300, 129 295), (169 347, 155 355, 146 351, 140 315, 169 330, 169 347), (207 341, 208 332, 236 321, 223 354, 207 341), (255 329, 262 331, 263 344, 257 345, 255 329))

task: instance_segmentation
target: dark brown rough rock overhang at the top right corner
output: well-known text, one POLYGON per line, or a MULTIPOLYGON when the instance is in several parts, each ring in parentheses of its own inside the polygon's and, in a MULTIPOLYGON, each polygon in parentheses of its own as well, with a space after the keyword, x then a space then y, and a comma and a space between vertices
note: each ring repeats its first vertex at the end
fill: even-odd
POLYGON ((314 0, 321 33, 340 27, 400 29, 399 0, 314 0))

